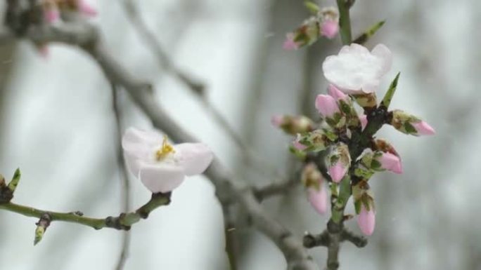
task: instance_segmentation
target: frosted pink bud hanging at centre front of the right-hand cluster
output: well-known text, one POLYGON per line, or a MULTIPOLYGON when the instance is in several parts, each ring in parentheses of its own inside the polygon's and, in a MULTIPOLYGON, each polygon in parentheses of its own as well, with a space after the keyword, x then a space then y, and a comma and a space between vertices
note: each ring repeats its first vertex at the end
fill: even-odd
POLYGON ((336 144, 326 159, 328 173, 331 175, 333 182, 339 183, 349 170, 351 164, 351 156, 349 156, 349 148, 342 142, 336 144))

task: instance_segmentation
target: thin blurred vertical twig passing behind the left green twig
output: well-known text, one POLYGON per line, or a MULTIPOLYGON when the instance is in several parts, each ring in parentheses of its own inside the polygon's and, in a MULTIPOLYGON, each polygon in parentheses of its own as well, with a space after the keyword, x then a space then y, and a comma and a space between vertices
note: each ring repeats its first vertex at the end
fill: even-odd
MULTIPOLYGON (((116 156, 117 156, 117 166, 119 168, 119 177, 120 177, 120 187, 122 188, 121 194, 121 203, 122 203, 122 212, 127 212, 130 210, 130 184, 129 184, 129 175, 127 173, 127 168, 125 168, 124 163, 124 156, 122 155, 122 119, 120 114, 120 107, 119 107, 119 97, 118 92, 119 89, 115 86, 115 83, 112 83, 112 102, 113 102, 113 111, 115 115, 115 132, 117 135, 117 147, 116 147, 116 156)), ((125 262, 127 261, 127 256, 129 254, 129 246, 130 246, 130 231, 124 231, 122 234, 122 248, 120 250, 119 259, 117 260, 117 266, 115 266, 116 270, 124 269, 125 262)))

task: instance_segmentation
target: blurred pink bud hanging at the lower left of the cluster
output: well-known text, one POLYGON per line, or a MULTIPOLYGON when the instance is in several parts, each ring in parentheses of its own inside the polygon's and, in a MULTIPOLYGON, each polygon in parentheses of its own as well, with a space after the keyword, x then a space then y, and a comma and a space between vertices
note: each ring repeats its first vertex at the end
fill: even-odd
POLYGON ((326 188, 323 187, 322 174, 316 164, 308 163, 304 166, 301 181, 307 189, 309 203, 319 214, 324 214, 327 211, 328 196, 326 188))

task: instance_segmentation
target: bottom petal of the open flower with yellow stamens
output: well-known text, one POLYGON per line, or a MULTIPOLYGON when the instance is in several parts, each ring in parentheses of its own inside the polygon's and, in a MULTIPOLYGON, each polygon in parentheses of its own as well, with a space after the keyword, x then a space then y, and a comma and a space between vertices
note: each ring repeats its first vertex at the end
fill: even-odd
POLYGON ((142 164, 139 178, 153 193, 172 191, 184 181, 184 169, 169 163, 142 164))

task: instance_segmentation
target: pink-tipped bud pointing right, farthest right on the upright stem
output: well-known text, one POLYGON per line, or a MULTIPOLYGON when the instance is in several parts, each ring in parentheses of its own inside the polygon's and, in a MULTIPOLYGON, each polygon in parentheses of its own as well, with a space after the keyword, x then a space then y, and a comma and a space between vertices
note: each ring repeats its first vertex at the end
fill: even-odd
POLYGON ((392 111, 391 125, 402 133, 414 136, 434 135, 436 133, 434 128, 425 121, 399 109, 392 111))

